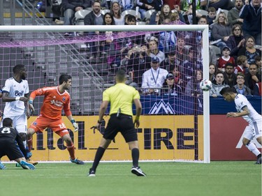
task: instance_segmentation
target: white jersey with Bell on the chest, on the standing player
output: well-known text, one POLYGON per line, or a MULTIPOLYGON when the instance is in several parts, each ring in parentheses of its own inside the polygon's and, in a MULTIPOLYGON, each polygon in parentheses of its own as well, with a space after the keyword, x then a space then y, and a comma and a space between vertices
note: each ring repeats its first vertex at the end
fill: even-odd
MULTIPOLYGON (((3 86, 3 93, 8 92, 9 97, 23 97, 24 94, 29 93, 29 86, 27 80, 21 80, 17 82, 13 77, 6 80, 5 86, 3 86)), ((3 116, 19 116, 25 114, 24 102, 15 100, 6 102, 6 107, 3 110, 3 116)))

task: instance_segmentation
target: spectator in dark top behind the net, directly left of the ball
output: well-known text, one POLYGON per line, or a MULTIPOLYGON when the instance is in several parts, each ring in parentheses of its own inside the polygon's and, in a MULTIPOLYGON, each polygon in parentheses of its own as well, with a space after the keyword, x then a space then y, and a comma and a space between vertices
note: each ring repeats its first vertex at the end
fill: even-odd
POLYGON ((196 70, 196 77, 191 77, 191 80, 187 82, 187 86, 184 93, 187 96, 194 96, 194 93, 196 93, 197 97, 201 96, 203 94, 203 91, 199 85, 201 81, 202 81, 202 71, 196 70))

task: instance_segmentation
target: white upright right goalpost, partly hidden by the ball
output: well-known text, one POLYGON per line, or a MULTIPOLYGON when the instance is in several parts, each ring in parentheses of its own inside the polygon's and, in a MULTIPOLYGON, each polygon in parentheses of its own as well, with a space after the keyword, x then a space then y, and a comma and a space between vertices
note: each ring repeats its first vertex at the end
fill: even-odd
MULTIPOLYGON (((203 79, 209 80, 208 27, 203 31, 203 79)), ((203 92, 204 163, 210 163, 210 96, 203 92)))

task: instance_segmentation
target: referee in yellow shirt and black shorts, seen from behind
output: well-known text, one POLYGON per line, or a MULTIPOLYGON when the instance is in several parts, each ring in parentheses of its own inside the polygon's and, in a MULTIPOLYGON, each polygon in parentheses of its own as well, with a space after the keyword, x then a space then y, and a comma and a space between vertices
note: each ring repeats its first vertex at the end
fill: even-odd
POLYGON ((139 116, 141 114, 142 105, 140 103, 140 95, 132 86, 125 84, 126 73, 124 70, 118 70, 115 75, 117 84, 111 86, 103 92, 103 102, 100 106, 99 121, 97 121, 94 129, 100 130, 103 115, 110 103, 110 119, 108 126, 105 128, 105 133, 96 151, 94 163, 89 169, 89 176, 96 176, 96 167, 99 165, 103 153, 108 148, 111 141, 115 138, 118 132, 122 133, 124 140, 129 144, 131 149, 133 167, 131 172, 137 176, 146 176, 145 173, 138 167, 139 149, 138 149, 138 135, 135 129, 139 127, 139 116), (132 104, 136 105, 136 118, 133 122, 132 104))

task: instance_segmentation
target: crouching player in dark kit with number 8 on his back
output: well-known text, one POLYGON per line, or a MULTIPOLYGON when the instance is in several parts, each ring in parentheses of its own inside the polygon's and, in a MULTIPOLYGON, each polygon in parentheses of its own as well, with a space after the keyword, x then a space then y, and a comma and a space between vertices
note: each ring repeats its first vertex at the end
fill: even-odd
MULTIPOLYGON (((36 169, 34 165, 27 163, 25 158, 27 152, 22 138, 12 126, 12 119, 3 119, 3 127, 0 128, 0 158, 8 156, 9 160, 15 160, 17 163, 20 163, 23 169, 36 169)), ((0 169, 6 169, 6 167, 0 163, 0 169)))

